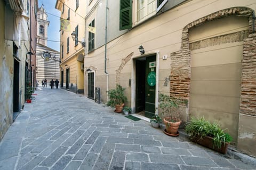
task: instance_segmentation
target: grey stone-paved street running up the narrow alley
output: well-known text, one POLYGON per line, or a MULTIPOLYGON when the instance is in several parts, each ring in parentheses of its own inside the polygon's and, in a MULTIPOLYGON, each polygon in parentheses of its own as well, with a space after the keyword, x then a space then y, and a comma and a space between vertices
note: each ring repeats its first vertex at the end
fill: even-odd
POLYGON ((0 143, 1 170, 255 169, 83 95, 50 87, 35 93, 0 143))

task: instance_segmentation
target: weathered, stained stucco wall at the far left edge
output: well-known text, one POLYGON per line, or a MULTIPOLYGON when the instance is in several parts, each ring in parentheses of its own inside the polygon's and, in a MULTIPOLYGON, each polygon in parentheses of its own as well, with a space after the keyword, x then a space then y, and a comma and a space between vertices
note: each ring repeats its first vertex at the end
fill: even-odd
POLYGON ((0 140, 12 124, 13 57, 12 42, 4 40, 5 4, 0 1, 0 140))

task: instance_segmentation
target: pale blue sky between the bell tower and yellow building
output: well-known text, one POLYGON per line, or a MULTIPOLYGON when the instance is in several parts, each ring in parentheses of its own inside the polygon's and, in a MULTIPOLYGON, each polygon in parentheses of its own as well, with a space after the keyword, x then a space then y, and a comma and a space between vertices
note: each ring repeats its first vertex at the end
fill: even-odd
POLYGON ((56 51, 60 51, 60 11, 55 9, 56 0, 38 0, 38 7, 41 7, 42 4, 44 4, 43 7, 46 11, 46 14, 48 15, 47 20, 50 21, 48 27, 48 39, 51 41, 58 41, 47 41, 47 46, 53 48, 56 51), (54 15, 59 17, 55 17, 54 15))

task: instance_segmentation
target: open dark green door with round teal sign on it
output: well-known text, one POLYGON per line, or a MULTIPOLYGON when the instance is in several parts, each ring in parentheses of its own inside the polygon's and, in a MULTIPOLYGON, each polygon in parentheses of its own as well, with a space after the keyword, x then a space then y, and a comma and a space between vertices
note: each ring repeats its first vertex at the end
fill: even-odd
POLYGON ((156 56, 146 58, 145 117, 155 115, 156 98, 156 56))

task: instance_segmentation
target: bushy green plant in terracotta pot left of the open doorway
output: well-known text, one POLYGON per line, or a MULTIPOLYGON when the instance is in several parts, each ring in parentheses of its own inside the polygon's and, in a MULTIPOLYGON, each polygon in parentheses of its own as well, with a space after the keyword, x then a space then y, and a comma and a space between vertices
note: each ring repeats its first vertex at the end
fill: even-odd
POLYGON ((111 89, 107 92, 109 96, 107 105, 115 107, 115 112, 122 112, 124 103, 127 102, 127 97, 124 95, 124 90, 125 88, 117 84, 115 89, 111 89))

